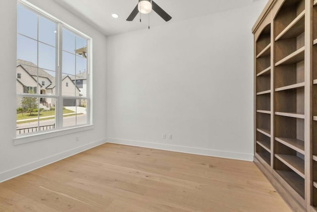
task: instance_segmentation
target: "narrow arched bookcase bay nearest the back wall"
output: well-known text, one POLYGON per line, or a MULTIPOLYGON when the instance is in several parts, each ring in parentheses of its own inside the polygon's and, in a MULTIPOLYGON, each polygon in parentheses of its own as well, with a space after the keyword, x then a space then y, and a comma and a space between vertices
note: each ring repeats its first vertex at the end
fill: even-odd
POLYGON ((271 166, 271 25, 267 25, 256 42, 256 131, 255 152, 271 166))

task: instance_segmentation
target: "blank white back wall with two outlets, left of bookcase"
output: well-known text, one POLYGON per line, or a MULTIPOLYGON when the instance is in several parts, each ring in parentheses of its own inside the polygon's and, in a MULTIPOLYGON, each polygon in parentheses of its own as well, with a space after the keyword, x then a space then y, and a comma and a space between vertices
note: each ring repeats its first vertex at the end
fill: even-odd
POLYGON ((251 28, 265 3, 107 37, 107 141, 253 160, 251 28))

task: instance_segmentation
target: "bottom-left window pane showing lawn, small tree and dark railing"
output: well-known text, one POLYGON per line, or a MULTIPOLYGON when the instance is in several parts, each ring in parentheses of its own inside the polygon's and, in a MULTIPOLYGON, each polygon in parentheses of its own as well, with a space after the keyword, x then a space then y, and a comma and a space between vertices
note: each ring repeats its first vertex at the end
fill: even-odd
POLYGON ((38 98, 16 98, 16 134, 23 135, 37 132, 39 129, 38 98))

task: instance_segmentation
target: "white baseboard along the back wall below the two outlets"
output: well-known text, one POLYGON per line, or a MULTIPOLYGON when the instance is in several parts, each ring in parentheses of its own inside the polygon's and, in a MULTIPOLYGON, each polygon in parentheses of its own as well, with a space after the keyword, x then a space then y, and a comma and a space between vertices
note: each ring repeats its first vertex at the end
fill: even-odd
POLYGON ((117 139, 117 138, 107 138, 106 141, 111 143, 117 143, 117 144, 148 147, 148 148, 177 151, 177 152, 184 152, 184 153, 190 153, 190 154, 200 154, 200 155, 207 155, 207 156, 213 156, 213 157, 223 157, 223 158, 230 158, 230 159, 237 159, 237 160, 246 160, 246 161, 253 161, 253 156, 254 156, 253 154, 241 153, 241 152, 220 151, 220 150, 214 150, 214 149, 170 145, 170 144, 147 142, 147 141, 134 141, 134 140, 117 139))

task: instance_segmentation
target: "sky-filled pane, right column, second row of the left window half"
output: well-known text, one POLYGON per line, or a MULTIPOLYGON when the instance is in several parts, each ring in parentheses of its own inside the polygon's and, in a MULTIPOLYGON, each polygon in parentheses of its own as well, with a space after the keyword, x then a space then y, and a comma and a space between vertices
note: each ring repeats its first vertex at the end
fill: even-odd
POLYGON ((55 71, 56 50, 54 47, 39 43, 39 67, 55 71))

